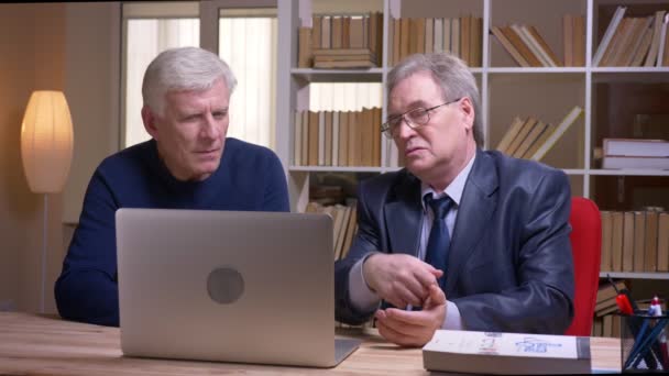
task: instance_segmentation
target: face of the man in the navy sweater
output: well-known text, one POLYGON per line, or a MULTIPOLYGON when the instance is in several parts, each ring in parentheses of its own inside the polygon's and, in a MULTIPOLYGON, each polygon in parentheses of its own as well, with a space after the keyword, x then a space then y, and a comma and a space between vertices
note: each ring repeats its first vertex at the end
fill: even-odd
POLYGON ((204 180, 216 172, 228 133, 229 100, 219 79, 208 90, 167 92, 163 115, 142 109, 144 126, 175 178, 204 180))

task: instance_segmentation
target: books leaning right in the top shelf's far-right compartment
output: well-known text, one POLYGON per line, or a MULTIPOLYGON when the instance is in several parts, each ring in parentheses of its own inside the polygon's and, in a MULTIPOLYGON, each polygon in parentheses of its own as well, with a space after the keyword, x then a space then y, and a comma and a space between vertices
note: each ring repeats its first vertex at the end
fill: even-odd
POLYGON ((647 16, 624 16, 627 7, 616 8, 592 58, 601 67, 659 67, 669 65, 666 10, 647 16))

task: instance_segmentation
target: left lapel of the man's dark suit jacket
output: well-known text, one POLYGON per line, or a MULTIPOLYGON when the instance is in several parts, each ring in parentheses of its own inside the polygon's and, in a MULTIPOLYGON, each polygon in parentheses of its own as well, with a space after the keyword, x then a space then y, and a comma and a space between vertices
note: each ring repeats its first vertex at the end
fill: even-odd
POLYGON ((405 176, 395 190, 395 200, 384 208, 390 250, 418 256, 423 207, 420 206, 420 181, 404 172, 405 176))

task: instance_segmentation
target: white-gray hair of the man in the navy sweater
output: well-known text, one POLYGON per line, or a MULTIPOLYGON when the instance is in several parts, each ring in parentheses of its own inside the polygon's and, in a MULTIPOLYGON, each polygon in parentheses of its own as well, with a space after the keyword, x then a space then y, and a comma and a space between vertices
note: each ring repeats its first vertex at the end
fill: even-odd
POLYGON ((207 90, 220 78, 232 96, 237 78, 216 54, 198 47, 166 49, 149 64, 142 82, 142 98, 145 106, 163 115, 167 92, 207 90))

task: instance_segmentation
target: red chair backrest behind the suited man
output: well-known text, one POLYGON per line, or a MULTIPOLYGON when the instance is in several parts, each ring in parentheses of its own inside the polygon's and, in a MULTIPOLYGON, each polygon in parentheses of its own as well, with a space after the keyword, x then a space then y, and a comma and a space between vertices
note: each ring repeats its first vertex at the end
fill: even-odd
POLYGON ((574 314, 567 335, 590 336, 600 281, 602 218, 597 206, 583 197, 571 199, 571 252, 574 267, 574 314))

